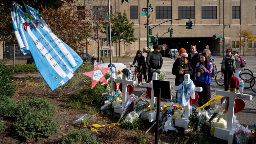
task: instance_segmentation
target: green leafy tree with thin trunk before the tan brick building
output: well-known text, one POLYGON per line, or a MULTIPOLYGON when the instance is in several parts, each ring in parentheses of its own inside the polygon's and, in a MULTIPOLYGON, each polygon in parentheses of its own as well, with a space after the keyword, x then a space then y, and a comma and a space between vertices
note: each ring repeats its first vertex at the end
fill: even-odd
MULTIPOLYGON (((104 26, 108 26, 108 22, 103 23, 104 26)), ((131 44, 137 38, 134 37, 134 22, 129 23, 126 12, 117 12, 117 15, 113 17, 111 14, 111 40, 118 43, 118 55, 120 56, 120 42, 131 44)), ((101 30, 102 33, 106 34, 106 27, 103 27, 105 31, 101 30)))

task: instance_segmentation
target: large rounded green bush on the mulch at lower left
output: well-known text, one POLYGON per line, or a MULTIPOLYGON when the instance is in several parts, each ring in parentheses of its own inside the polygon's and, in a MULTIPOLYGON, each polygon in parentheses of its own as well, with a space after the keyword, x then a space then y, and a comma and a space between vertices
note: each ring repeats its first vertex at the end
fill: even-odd
POLYGON ((56 108, 42 98, 25 98, 15 109, 14 128, 25 139, 49 137, 59 130, 53 117, 56 108))

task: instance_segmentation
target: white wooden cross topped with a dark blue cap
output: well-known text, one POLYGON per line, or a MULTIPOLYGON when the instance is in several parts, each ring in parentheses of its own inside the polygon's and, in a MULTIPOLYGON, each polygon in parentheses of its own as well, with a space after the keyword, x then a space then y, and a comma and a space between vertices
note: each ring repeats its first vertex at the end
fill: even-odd
POLYGON ((111 80, 111 82, 113 82, 112 87, 111 87, 111 90, 112 90, 111 94, 112 95, 115 94, 115 83, 114 82, 123 84, 123 86, 122 86, 122 105, 114 107, 114 109, 115 109, 114 112, 115 113, 122 113, 123 112, 123 107, 125 106, 125 104, 127 102, 127 99, 129 97, 129 92, 127 92, 127 85, 135 85, 136 81, 127 80, 127 76, 124 73, 123 73, 123 78, 122 79, 110 77, 110 80, 111 80))

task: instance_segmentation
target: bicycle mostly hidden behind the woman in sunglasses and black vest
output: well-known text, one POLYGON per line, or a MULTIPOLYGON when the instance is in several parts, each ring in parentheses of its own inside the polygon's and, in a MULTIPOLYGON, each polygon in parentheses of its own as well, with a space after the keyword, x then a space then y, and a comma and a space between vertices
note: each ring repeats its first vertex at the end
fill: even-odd
MULTIPOLYGON (((220 64, 222 64, 222 63, 220 63, 220 64)), ((250 71, 250 70, 248 70, 248 69, 245 69, 245 68, 242 68, 242 70, 240 70, 239 71, 239 77, 241 78, 241 74, 242 73, 246 73, 245 74, 245 76, 247 76, 248 74, 250 74, 250 75, 248 75, 248 76, 250 76, 250 77, 247 77, 247 79, 245 78, 245 79, 243 79, 243 80, 250 80, 250 79, 252 79, 253 78, 253 73, 252 73, 252 71, 250 71)), ((219 85, 219 86, 224 86, 224 77, 221 75, 221 71, 218 71, 216 74, 215 74, 215 81, 216 81, 216 83, 217 83, 217 85, 219 85)))

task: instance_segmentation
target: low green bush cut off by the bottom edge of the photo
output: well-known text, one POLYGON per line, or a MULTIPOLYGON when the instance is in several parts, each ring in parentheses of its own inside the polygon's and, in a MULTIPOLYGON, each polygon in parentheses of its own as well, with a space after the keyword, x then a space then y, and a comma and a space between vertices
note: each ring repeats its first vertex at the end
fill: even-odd
POLYGON ((73 130, 61 141, 61 144, 101 144, 100 139, 88 130, 73 130))

